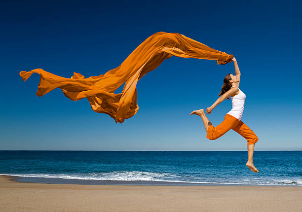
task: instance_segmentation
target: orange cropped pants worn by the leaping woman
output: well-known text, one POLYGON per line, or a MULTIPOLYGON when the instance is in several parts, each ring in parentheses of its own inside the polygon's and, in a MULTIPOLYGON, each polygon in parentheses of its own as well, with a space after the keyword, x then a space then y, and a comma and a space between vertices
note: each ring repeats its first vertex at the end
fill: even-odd
POLYGON ((230 114, 226 114, 225 120, 223 120, 223 122, 221 122, 218 126, 209 126, 207 138, 210 140, 218 139, 222 135, 226 134, 230 129, 234 130, 245 138, 248 145, 254 144, 259 140, 256 134, 248 126, 246 126, 246 124, 230 114))

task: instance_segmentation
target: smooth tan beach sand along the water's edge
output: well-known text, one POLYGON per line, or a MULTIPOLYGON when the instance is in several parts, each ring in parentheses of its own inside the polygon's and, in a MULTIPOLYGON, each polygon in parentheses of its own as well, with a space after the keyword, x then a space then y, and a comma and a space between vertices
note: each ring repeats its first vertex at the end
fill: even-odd
POLYGON ((25 183, 0 176, 1 212, 298 212, 301 186, 25 183))

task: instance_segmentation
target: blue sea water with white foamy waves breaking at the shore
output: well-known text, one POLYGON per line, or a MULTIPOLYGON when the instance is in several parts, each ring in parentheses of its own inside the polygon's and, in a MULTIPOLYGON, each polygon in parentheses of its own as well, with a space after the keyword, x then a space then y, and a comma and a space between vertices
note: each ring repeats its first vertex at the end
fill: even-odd
POLYGON ((302 185, 302 151, 0 151, 0 175, 76 184, 302 185))

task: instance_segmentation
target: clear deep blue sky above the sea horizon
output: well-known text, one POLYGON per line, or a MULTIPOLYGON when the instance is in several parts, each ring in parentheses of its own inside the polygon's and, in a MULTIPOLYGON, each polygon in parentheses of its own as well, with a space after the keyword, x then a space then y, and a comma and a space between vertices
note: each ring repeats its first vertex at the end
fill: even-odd
MULTIPOLYGON (((87 99, 57 88, 36 96, 41 68, 70 78, 118 67, 156 32, 180 33, 233 54, 246 94, 242 121, 259 137, 255 150, 302 150, 302 18, 298 1, 6 1, 1 3, 1 150, 246 150, 229 131, 206 139, 200 117, 233 63, 171 57, 137 84, 137 114, 116 124, 87 99)), ((115 93, 120 92, 122 87, 115 93)), ((207 115, 214 126, 225 100, 207 115)))

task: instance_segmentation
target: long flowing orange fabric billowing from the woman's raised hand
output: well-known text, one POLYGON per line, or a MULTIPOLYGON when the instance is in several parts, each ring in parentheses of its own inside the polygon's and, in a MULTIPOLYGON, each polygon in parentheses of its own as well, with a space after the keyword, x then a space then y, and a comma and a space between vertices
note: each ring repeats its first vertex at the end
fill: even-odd
POLYGON ((38 97, 55 88, 61 88, 67 98, 73 101, 87 98, 95 112, 106 113, 116 123, 122 123, 139 109, 136 91, 138 80, 173 55, 217 60, 217 64, 227 64, 233 58, 231 54, 212 49, 185 35, 158 32, 142 42, 119 67, 99 76, 85 78, 74 72, 71 78, 65 78, 42 69, 21 71, 20 76, 26 81, 32 73, 40 74, 36 93, 38 97), (114 94, 124 82, 122 92, 114 94))

